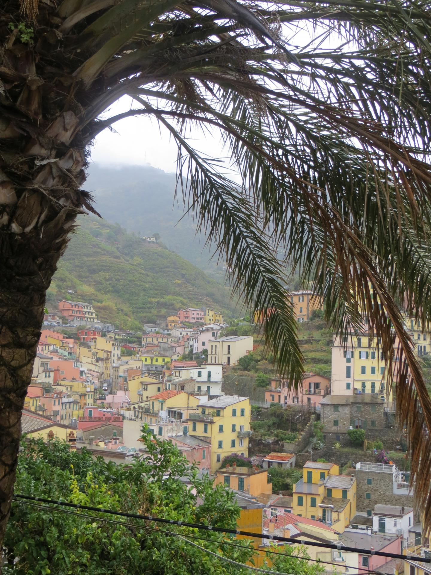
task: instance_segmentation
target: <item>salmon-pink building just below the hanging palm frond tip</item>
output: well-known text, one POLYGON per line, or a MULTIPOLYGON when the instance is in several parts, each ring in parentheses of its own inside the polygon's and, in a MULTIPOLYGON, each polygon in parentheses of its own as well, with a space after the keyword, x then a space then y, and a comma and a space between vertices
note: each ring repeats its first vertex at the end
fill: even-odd
POLYGON ((265 401, 282 405, 304 405, 314 409, 329 393, 329 378, 316 373, 306 374, 302 388, 289 389, 288 381, 271 379, 271 389, 265 391, 265 401))

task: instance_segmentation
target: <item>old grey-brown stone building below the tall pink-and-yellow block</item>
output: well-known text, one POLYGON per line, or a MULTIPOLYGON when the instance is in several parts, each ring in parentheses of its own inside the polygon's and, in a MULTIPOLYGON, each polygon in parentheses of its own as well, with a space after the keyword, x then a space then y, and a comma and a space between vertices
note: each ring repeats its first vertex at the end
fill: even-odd
POLYGON ((373 432, 386 427, 384 402, 375 393, 328 395, 320 402, 320 413, 325 441, 329 444, 347 442, 350 428, 367 430, 366 437, 372 439, 373 432))

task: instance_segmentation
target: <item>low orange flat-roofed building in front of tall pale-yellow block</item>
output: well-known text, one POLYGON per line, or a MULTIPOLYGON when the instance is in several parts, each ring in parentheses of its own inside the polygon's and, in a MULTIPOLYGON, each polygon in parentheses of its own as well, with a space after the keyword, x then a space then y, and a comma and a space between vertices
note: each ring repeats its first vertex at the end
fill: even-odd
POLYGON ((272 493, 272 483, 268 480, 266 469, 254 467, 237 467, 236 465, 224 467, 216 471, 214 485, 219 483, 236 491, 244 491, 252 496, 261 493, 272 493))

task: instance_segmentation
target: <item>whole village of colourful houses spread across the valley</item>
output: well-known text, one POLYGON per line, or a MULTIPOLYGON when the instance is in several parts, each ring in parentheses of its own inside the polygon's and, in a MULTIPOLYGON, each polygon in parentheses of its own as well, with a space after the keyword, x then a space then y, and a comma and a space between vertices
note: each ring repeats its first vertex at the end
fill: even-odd
MULTIPOLYGON (((310 290, 291 293, 291 304, 301 324, 322 308, 310 290)), ((415 353, 429 354, 430 335, 405 321, 415 353)), ((238 366, 261 339, 224 335, 228 324, 213 309, 179 309, 137 334, 99 323, 86 302, 63 300, 44 324, 22 415, 29 436, 121 463, 145 455, 146 425, 214 486, 232 490, 240 528, 298 545, 336 542, 336 551, 308 548, 328 572, 413 575, 412 557, 431 553, 414 511, 405 439, 395 430, 390 378, 366 328, 333 336, 330 377, 306 373, 295 391, 266 376, 244 392, 238 366)))

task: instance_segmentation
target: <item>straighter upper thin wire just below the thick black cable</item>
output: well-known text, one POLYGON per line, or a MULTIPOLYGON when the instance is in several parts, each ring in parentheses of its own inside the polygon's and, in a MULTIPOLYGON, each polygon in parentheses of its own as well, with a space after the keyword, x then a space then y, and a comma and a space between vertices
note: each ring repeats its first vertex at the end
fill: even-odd
MULTIPOLYGON (((80 517, 81 519, 91 519, 91 520, 95 520, 98 522, 105 522, 105 523, 114 523, 116 525, 122 525, 125 527, 137 527, 138 529, 147 529, 149 531, 155 531, 156 533, 166 533, 167 535, 179 535, 178 533, 175 533, 173 531, 166 531, 163 529, 153 529, 151 527, 141 527, 139 525, 136 525, 134 523, 125 523, 122 521, 116 521, 114 519, 104 519, 102 517, 95 517, 94 515, 87 515, 86 513, 77 513, 76 511, 68 511, 67 509, 61 509, 61 508, 55 508, 55 507, 48 507, 48 505, 37 505, 36 503, 30 503, 30 501, 14 501, 14 503, 22 503, 23 505, 31 505, 32 507, 37 507, 38 509, 49 509, 49 511, 56 511, 59 513, 68 513, 69 515, 76 515, 77 517, 80 517)), ((313 561, 314 563, 323 563, 325 565, 332 565, 334 566, 333 562, 330 561, 323 561, 322 559, 312 559, 311 557, 300 557, 299 555, 291 555, 289 553, 283 553, 282 551, 272 551, 270 549, 259 549, 259 547, 244 547, 244 545, 239 545, 238 543, 233 543, 233 541, 217 541, 215 539, 208 539, 207 537, 202 537, 201 535, 191 535, 191 534, 187 534, 187 537, 191 538, 191 539, 198 539, 199 541, 208 541, 210 543, 217 543, 217 545, 228 545, 230 547, 240 547, 240 549, 252 549, 254 551, 257 551, 258 553, 269 553, 272 555, 282 555, 284 557, 295 557, 298 559, 303 559, 303 561, 313 561)), ((379 575, 379 573, 377 571, 370 571, 367 568, 363 568, 363 567, 358 567, 358 569, 360 571, 365 571, 367 572, 367 574, 375 574, 375 575, 379 575)), ((363 573, 352 573, 352 575, 364 575, 363 573)))

